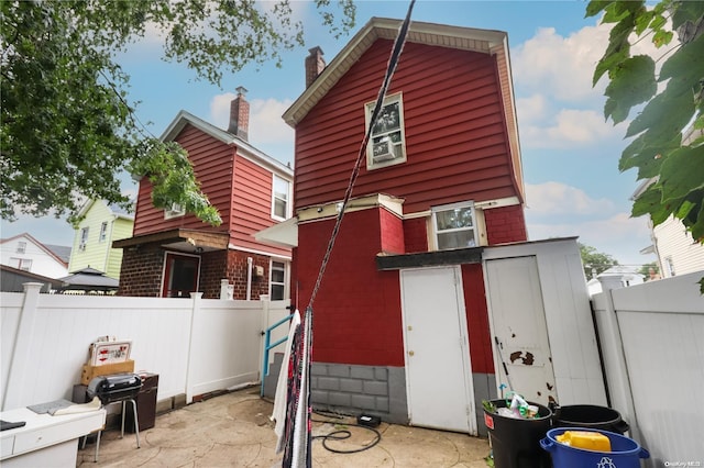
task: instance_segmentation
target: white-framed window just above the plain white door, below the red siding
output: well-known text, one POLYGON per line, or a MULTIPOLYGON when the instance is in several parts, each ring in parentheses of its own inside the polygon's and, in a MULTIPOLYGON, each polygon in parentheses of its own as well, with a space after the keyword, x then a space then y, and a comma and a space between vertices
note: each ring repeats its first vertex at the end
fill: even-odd
POLYGON ((439 250, 479 245, 476 214, 471 201, 432 208, 432 227, 439 250))

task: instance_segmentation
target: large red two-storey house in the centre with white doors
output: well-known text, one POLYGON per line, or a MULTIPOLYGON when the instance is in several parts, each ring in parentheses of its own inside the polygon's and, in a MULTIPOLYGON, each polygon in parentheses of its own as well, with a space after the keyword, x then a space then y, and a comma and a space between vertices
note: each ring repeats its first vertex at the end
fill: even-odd
MULTIPOLYGON (((400 23, 310 49, 284 114, 296 219, 257 237, 295 247, 301 312, 400 23)), ((413 22, 381 115, 312 307, 312 403, 485 433, 505 368, 531 401, 605 403, 576 239, 526 242, 506 33, 413 22)))

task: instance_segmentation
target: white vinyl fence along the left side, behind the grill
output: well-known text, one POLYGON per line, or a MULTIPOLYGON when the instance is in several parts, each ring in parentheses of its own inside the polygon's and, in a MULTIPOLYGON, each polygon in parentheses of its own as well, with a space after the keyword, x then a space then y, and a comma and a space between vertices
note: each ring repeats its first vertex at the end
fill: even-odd
MULTIPOLYGON (((288 301, 0 293, 1 410, 70 400, 99 336, 131 339, 135 371, 158 374, 157 400, 258 383, 262 332, 288 301)), ((277 332, 285 335, 283 326, 277 332)))

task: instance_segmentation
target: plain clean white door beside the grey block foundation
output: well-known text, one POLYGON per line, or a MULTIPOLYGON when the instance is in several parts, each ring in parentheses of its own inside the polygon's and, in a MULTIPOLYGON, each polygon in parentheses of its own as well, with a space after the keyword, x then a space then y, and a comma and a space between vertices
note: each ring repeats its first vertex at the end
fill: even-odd
POLYGON ((410 424, 476 435, 461 272, 400 272, 410 424))

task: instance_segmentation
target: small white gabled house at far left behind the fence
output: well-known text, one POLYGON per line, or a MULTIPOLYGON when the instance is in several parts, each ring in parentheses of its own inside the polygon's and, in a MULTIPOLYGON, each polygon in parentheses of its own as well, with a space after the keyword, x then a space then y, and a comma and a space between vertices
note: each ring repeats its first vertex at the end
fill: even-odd
POLYGON ((70 252, 69 247, 52 246, 50 248, 28 233, 0 239, 0 252, 2 265, 47 278, 62 278, 68 275, 66 253, 70 252))

